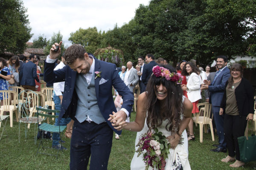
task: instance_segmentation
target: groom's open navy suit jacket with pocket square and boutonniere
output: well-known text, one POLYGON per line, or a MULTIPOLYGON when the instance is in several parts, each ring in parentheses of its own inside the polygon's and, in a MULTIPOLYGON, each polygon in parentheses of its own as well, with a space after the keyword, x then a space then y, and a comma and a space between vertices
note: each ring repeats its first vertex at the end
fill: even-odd
MULTIPOLYGON (((111 125, 111 122, 108 121, 109 114, 116 112, 116 107, 113 101, 112 95, 112 85, 122 96, 123 104, 122 108, 125 108, 129 114, 131 113, 131 108, 133 106, 134 97, 132 92, 128 89, 125 83, 120 78, 116 65, 104 62, 96 59, 92 54, 89 54, 95 59, 95 71, 101 71, 101 77, 95 79, 95 91, 98 101, 99 110, 102 113, 102 116, 108 123, 108 125, 118 134, 121 134, 122 131, 117 131, 111 125), (107 80, 104 84, 99 85, 100 79, 104 78, 107 80)), ((77 93, 75 89, 75 82, 77 72, 73 71, 68 65, 57 71, 53 71, 55 63, 45 62, 44 68, 44 81, 49 82, 54 79, 54 82, 63 82, 65 81, 63 99, 61 104, 61 112, 59 115, 59 120, 62 116, 71 117, 75 119, 76 116, 76 106, 77 106, 77 93)), ((96 74, 95 74, 96 77, 96 74)))

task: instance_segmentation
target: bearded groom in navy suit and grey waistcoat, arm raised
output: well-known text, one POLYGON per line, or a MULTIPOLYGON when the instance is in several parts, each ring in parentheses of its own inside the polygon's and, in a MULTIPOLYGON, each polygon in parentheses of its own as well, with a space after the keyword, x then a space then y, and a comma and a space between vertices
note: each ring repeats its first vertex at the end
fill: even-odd
POLYGON ((75 122, 70 144, 70 170, 107 170, 111 152, 113 126, 118 126, 129 116, 133 105, 133 94, 119 77, 114 64, 96 59, 85 49, 74 44, 65 51, 67 66, 53 71, 55 60, 61 49, 55 51, 60 42, 52 45, 44 68, 44 81, 65 81, 59 120, 71 117, 75 122), (109 115, 116 112, 112 85, 123 97, 120 111, 115 114, 113 126, 109 115))

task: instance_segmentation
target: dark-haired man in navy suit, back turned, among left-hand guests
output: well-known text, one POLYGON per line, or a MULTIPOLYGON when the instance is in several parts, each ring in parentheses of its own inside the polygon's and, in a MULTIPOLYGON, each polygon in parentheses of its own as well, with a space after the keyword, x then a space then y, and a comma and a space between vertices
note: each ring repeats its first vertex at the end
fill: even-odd
POLYGON ((22 68, 20 69, 20 85, 25 90, 35 91, 35 80, 40 82, 36 74, 36 65, 33 63, 35 59, 35 54, 30 54, 29 62, 23 63, 22 68))

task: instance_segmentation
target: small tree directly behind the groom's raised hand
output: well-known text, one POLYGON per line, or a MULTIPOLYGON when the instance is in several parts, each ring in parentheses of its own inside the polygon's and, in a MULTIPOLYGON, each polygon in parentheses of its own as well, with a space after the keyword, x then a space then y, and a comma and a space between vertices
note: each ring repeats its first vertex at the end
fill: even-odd
MULTIPOLYGON (((57 34, 53 33, 51 39, 47 41, 47 46, 44 48, 44 54, 49 55, 50 54, 50 49, 52 48, 52 45, 55 42, 59 43, 60 41, 62 41, 62 37, 63 37, 63 35, 61 34, 60 31, 58 31, 57 34)), ((66 48, 64 48, 64 43, 62 42, 62 44, 61 44, 61 53, 63 53, 65 50, 66 50, 66 48)), ((61 55, 58 57, 58 59, 61 60, 61 55)))

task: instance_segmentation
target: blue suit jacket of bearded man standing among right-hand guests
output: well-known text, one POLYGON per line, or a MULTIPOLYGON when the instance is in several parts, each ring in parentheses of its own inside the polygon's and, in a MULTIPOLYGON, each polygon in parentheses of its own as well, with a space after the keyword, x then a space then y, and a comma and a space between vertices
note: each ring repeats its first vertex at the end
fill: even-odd
POLYGON ((211 102, 213 106, 220 106, 222 97, 225 91, 225 85, 230 77, 230 69, 224 68, 219 75, 216 77, 215 81, 211 82, 208 86, 208 91, 211 93, 211 102))

